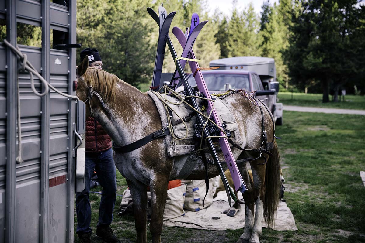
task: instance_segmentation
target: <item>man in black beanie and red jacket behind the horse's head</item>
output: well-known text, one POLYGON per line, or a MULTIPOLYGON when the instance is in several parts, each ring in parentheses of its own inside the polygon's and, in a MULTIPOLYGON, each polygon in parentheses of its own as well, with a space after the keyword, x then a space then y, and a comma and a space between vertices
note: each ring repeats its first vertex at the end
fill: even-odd
MULTIPOLYGON (((96 49, 85 48, 80 53, 83 60, 88 56, 89 66, 102 69, 103 62, 96 49)), ((108 134, 94 118, 86 119, 85 189, 76 193, 76 233, 81 242, 91 242, 91 206, 89 201, 90 182, 94 170, 97 172, 101 191, 99 222, 96 235, 106 242, 117 242, 110 228, 116 199, 116 171, 113 161, 112 143, 108 134)))

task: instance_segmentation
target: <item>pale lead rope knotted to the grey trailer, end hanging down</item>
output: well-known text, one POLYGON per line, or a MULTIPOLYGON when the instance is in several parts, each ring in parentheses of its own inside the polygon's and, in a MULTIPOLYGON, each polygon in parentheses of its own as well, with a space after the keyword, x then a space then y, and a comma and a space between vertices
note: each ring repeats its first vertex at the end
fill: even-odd
POLYGON ((23 159, 22 159, 22 130, 21 130, 21 123, 20 123, 20 90, 19 90, 19 71, 28 71, 29 76, 30 76, 30 87, 33 91, 33 93, 39 97, 43 97, 46 94, 48 94, 49 92, 49 88, 51 88, 52 90, 54 90, 56 93, 68 97, 68 98, 72 98, 72 99, 76 99, 77 101, 80 100, 77 96, 75 95, 69 95, 69 94, 65 94, 61 91, 59 91, 58 89, 56 89, 55 87, 53 87, 49 82, 47 82, 42 75, 39 74, 39 72, 33 67, 33 65, 28 61, 28 57, 27 54, 23 54, 22 51, 20 51, 18 45, 16 45, 16 47, 14 47, 12 44, 10 44, 7 40, 4 40, 4 43, 10 48, 10 50, 12 50, 15 54, 18 55, 18 58, 20 60, 23 60, 22 62, 22 67, 20 67, 18 69, 17 72, 17 77, 16 77, 16 90, 17 90, 17 105, 16 105, 16 109, 17 109, 17 123, 18 123, 18 156, 16 157, 16 163, 17 164, 21 164, 23 163, 23 159), (39 93, 35 87, 34 87, 34 76, 37 76, 37 78, 39 78, 39 80, 43 83, 43 86, 45 87, 45 91, 43 93, 39 93))

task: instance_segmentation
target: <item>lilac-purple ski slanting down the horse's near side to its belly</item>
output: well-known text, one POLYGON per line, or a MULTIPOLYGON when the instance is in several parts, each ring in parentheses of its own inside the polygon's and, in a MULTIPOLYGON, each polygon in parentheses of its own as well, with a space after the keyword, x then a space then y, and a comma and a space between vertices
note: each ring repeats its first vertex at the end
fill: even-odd
MULTIPOLYGON (((180 42, 181 46, 184 46, 185 43, 187 43, 187 38, 186 38, 184 32, 182 30, 180 30, 180 28, 174 27, 172 29, 172 33, 175 35, 177 40, 180 42)), ((189 56, 189 58, 195 59, 193 50, 191 50, 190 54, 191 54, 191 56, 189 56)), ((197 68, 199 68, 199 65, 197 62, 189 61, 189 65, 190 65, 190 68, 191 68, 191 71, 193 72, 193 74, 196 72, 197 68)), ((199 92, 203 93, 205 95, 205 97, 211 97, 210 93, 208 91, 207 85, 205 84, 203 75, 201 74, 200 70, 198 70, 196 72, 196 75, 194 78, 196 81, 196 85, 198 86, 199 92)), ((216 113, 216 111, 214 109, 213 102, 208 101, 207 113, 210 114, 211 111, 212 111, 213 121, 222 127, 222 124, 220 124, 220 121, 218 119, 218 114, 216 113)), ((222 131, 220 131, 220 136, 225 136, 225 134, 222 131)), ((232 154, 231 148, 228 144, 227 138, 219 138, 219 145, 224 154, 224 159, 226 160, 228 169, 231 172, 235 190, 241 191, 242 193, 244 193, 247 190, 247 187, 246 187, 245 182, 242 179, 241 174, 238 171, 237 164, 233 157, 233 154, 232 154)))

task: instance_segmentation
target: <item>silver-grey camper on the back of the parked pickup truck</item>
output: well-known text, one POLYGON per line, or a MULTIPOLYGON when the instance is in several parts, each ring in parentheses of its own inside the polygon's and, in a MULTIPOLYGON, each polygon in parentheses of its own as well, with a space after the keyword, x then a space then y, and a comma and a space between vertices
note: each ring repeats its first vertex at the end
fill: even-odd
MULTIPOLYGON (((276 124, 283 124, 283 103, 277 102, 279 85, 276 79, 276 68, 273 58, 259 56, 239 56, 212 60, 209 65, 210 67, 219 67, 220 70, 249 71, 258 74, 265 90, 275 90, 273 95, 269 95, 268 103, 272 104, 271 111, 274 115, 276 124)), ((227 83, 229 83, 228 80, 227 83)))

